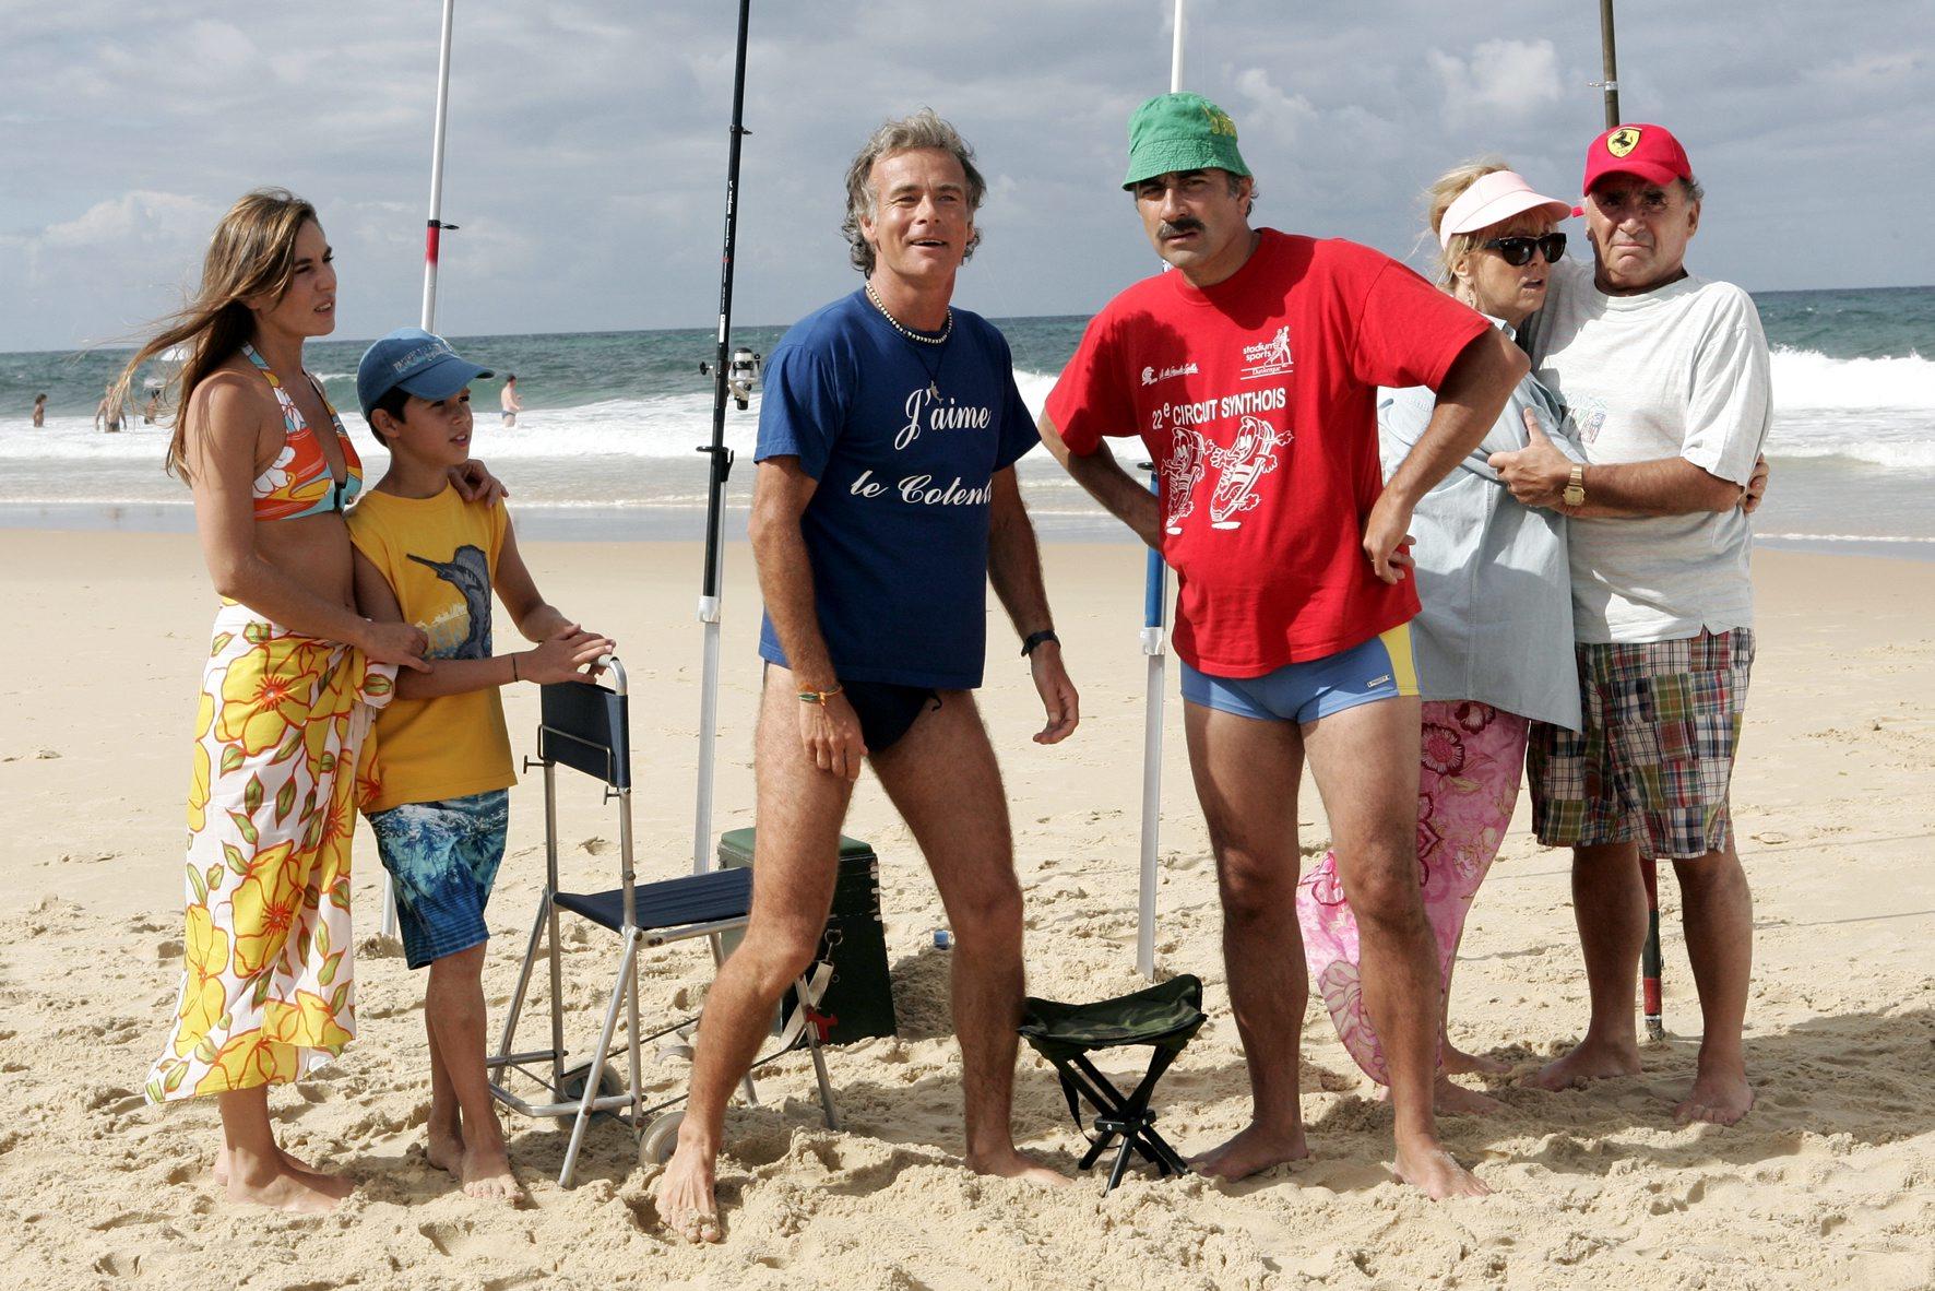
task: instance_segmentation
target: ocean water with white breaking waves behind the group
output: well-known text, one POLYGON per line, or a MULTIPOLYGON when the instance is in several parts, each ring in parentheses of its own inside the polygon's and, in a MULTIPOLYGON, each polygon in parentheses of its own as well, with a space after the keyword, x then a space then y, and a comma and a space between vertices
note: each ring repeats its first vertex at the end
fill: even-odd
MULTIPOLYGON (((1935 288, 1761 292, 1772 345, 1774 482, 1757 517, 1767 546, 1935 559, 1935 288)), ((1029 406, 1041 408, 1074 352, 1084 317, 995 319, 1014 350, 1029 406)), ((782 327, 739 327, 760 354, 782 327)), ((633 331, 457 337, 499 374, 517 372, 524 414, 497 418, 497 381, 472 391, 474 451, 513 490, 519 528, 551 538, 699 538, 704 532, 712 333, 633 331)), ((360 341, 312 343, 306 358, 344 408, 372 478, 385 455, 356 416, 360 341)), ((126 352, 0 354, 0 526, 186 530, 188 490, 163 474, 168 430, 139 412, 99 434, 93 408, 126 352), (48 395, 45 430, 33 397, 48 395)), ((728 532, 743 530, 759 395, 728 408, 726 441, 741 455, 728 486, 728 532)), ((1120 449, 1124 459, 1134 443, 1120 449)), ((1047 538, 1122 538, 1111 517, 1045 453, 1020 466, 1047 538)))

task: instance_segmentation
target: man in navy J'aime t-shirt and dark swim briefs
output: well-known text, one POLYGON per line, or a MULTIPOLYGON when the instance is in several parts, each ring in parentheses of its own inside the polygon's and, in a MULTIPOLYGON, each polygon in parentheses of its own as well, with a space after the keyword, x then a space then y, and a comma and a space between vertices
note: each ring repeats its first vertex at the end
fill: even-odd
POLYGON ((1008 343, 948 302, 985 192, 973 151, 921 110, 848 168, 861 290, 801 319, 766 362, 753 554, 766 596, 753 919, 706 997, 658 1210, 718 1241, 726 1101, 774 1005, 819 948, 840 825, 863 761, 927 856, 954 925, 968 1167, 1066 1183, 1014 1150, 1022 890, 1008 805, 975 708, 995 583, 1047 710, 1078 722, 1014 463, 1039 437, 1008 343))

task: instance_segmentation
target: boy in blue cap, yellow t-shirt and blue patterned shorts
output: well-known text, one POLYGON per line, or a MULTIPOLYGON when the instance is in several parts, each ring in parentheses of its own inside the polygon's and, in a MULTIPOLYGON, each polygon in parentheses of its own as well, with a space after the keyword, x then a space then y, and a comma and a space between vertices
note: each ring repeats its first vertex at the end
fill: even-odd
POLYGON ((470 1196, 515 1202, 484 1066, 484 904, 517 782, 497 687, 580 677, 611 643, 544 602, 501 501, 466 503, 449 484, 470 457, 470 381, 488 375, 416 327, 370 346, 356 397, 391 465, 348 525, 362 614, 430 637, 430 670, 399 679, 372 736, 377 788, 364 807, 404 956, 430 966, 430 1161, 470 1196), (536 648, 491 654, 491 590, 536 648))

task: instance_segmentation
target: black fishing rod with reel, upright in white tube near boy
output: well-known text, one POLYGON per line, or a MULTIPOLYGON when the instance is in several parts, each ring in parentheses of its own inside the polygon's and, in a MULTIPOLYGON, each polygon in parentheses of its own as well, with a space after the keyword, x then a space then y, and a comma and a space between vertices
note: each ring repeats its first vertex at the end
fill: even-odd
POLYGON ((712 461, 706 488, 706 557, 699 590, 699 621, 704 623, 704 668, 699 699, 699 801, 693 819, 693 873, 712 869, 712 768, 720 710, 720 565, 726 557, 726 476, 731 449, 726 447, 726 348, 731 333, 731 263, 739 228, 739 141, 745 130, 745 37, 753 0, 739 0, 739 48, 731 81, 731 139, 726 153, 726 236, 720 254, 720 331, 718 362, 712 366, 712 441, 699 445, 712 461))

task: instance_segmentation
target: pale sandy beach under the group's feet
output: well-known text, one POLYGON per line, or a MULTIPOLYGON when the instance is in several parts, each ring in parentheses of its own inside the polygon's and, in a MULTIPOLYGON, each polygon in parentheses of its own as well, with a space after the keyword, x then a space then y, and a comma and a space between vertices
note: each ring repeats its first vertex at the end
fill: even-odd
MULTIPOLYGON (((695 523, 697 528, 697 523, 695 523)), ((621 643, 637 695, 639 865, 689 867, 697 763, 699 552, 691 544, 528 542, 548 596, 621 643)), ((902 1034, 830 1055, 846 1117, 815 1115, 811 1066, 778 1065, 762 1105, 728 1119, 726 1241, 664 1233, 654 1171, 594 1126, 580 1186, 557 1188, 565 1136, 509 1123, 532 1204, 464 1198, 422 1152, 422 977, 379 939, 379 865, 356 852, 360 1036, 319 1078, 273 1096, 284 1142, 344 1169, 325 1217, 246 1212, 207 1171, 215 1105, 145 1107, 182 952, 182 796, 194 681, 213 594, 186 534, 0 534, 0 1285, 60 1287, 1873 1287, 1935 1285, 1935 563, 1759 552, 1761 652, 1734 782, 1755 885, 1747 1063, 1759 1105, 1738 1128, 1676 1126, 1699 1012, 1662 875, 1668 1043, 1643 1076, 1546 1094, 1490 1082, 1505 1109, 1444 1123, 1496 1190, 1434 1206, 1384 1161, 1389 1111, 1322 1006, 1304 1018, 1314 1159, 1217 1186, 1132 1177, 1060 1192, 975 1179, 960 1146, 958 1051, 933 883, 877 782, 848 832, 882 859, 902 1034)), ((985 716, 1002 757, 1027 898, 1029 989, 1099 999, 1138 985, 1134 892, 1144 660, 1142 555, 1053 544, 1049 592, 1084 697, 1084 728, 1029 743, 1039 705, 1002 621, 985 716)), ((759 596, 728 552, 714 828, 753 823, 759 596)), ((1173 683, 1173 679, 1171 679, 1173 683)), ((530 751, 536 691, 507 699, 530 751)), ((567 782, 569 784, 569 782, 567 782)), ((615 879, 615 828, 590 782, 561 813, 567 885, 615 879)), ((1302 848, 1325 823, 1304 788, 1302 848)), ((1585 1022, 1567 856, 1517 832, 1463 945, 1453 1037, 1521 1068, 1585 1022)), ((491 906, 486 995, 501 1008, 544 873, 540 778, 513 792, 491 906)), ((1163 1132, 1186 1154, 1246 1113, 1229 1018, 1213 865, 1171 697, 1159 968, 1204 977, 1211 1020, 1163 1082, 1163 1132)), ((588 1043, 611 939, 567 933, 567 997, 588 1043)), ((646 960, 650 1012, 695 1006, 697 948, 646 960)), ((1126 1065, 1116 1065, 1116 1070, 1126 1065)), ((685 1066, 660 1059, 675 1090, 685 1066)), ((1476 1084, 1476 1082, 1474 1082, 1476 1084)), ((1024 1057, 1024 1148, 1074 1169, 1080 1136, 1045 1065, 1024 1057)))

